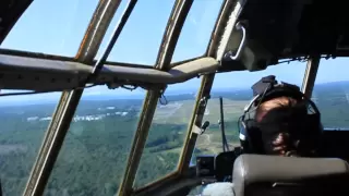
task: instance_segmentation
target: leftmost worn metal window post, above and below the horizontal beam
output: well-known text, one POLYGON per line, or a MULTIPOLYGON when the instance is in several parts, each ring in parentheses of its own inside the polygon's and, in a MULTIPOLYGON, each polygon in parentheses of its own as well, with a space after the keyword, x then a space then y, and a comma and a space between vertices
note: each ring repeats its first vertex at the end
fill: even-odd
MULTIPOLYGON (((120 2, 120 0, 99 1, 75 57, 77 61, 87 64, 93 63, 120 2)), ((62 93, 24 195, 43 195, 82 94, 83 89, 62 93)))

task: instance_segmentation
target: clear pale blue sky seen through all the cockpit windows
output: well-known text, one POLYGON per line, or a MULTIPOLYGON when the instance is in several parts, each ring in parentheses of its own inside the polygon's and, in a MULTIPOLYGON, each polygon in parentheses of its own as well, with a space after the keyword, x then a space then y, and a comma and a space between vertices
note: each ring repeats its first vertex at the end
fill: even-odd
MULTIPOLYGON (((194 0, 186 17, 172 62, 202 56, 222 0, 194 0)), ((19 20, 0 48, 74 57, 98 0, 35 0, 19 20), (44 24, 44 25, 41 25, 44 24)), ((112 29, 120 20, 128 1, 122 0, 115 14, 96 58, 104 51, 112 29)), ((174 0, 140 0, 121 33, 108 61, 154 65, 174 0)), ((349 81, 348 60, 322 60, 316 83, 349 81)), ((248 88, 262 76, 276 75, 278 79, 301 85, 305 63, 292 62, 269 66, 260 72, 220 73, 213 88, 248 88)), ((200 79, 174 84, 168 90, 196 90, 200 79)), ((83 97, 144 95, 145 90, 109 90, 105 86, 85 89, 83 97)), ((58 100, 60 93, 2 97, 2 100, 58 100)))

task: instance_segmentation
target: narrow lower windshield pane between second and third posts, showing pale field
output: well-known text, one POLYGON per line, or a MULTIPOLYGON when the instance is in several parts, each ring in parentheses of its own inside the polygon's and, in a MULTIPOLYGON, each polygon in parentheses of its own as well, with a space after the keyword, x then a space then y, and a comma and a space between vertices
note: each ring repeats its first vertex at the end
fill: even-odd
POLYGON ((134 186, 139 188, 177 170, 201 79, 168 86, 157 106, 134 186))

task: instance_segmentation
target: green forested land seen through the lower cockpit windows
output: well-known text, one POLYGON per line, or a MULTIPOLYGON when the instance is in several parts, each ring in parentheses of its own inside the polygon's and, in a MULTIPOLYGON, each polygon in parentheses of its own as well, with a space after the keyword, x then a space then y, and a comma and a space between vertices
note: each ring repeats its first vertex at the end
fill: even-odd
MULTIPOLYGON (((237 120, 252 91, 213 90, 204 117, 210 126, 205 136, 200 136, 195 155, 221 151, 217 123, 219 96, 224 97, 228 140, 238 144, 237 120)), ((176 170, 194 99, 192 94, 167 96, 168 105, 158 105, 135 188, 176 170)), ((348 127, 349 82, 317 85, 312 99, 322 111, 325 127, 348 127)), ((141 99, 82 100, 45 195, 115 195, 123 176, 142 103, 141 99)), ((24 191, 56 105, 0 108, 1 184, 3 195, 16 196, 24 191)))

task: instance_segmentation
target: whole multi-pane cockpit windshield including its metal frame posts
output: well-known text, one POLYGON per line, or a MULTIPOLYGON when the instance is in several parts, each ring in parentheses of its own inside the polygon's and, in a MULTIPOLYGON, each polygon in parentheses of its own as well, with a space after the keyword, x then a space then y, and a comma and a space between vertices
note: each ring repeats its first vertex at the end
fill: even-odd
MULTIPOLYGON (((198 155, 224 151, 221 121, 229 147, 238 146, 251 85, 273 74, 302 87, 308 65, 252 72, 238 64, 220 73, 229 3, 33 1, 0 40, 3 195, 124 196, 152 188, 181 175, 198 155), (22 90, 34 95, 5 96, 22 90)), ((320 63, 311 98, 325 127, 349 128, 345 64, 320 63)))

